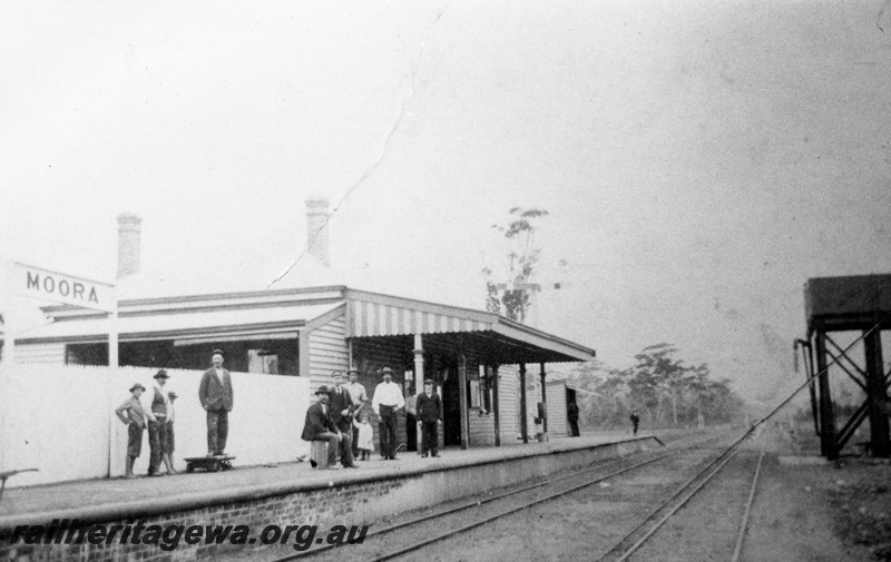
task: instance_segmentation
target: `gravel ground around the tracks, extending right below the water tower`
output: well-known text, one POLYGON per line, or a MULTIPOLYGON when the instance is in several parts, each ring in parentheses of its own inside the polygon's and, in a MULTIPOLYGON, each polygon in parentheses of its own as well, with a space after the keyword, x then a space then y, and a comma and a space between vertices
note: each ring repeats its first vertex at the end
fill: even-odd
MULTIPOLYGON (((781 463, 781 456, 806 450, 792 443, 801 438, 791 438, 783 427, 770 427, 631 560, 730 560, 762 448, 766 454, 742 560, 891 560, 889 464, 851 457, 839 463, 781 463)), ((712 447, 707 452, 708 455, 678 455, 635 470, 399 560, 596 560, 718 451, 712 447)), ((398 515, 375 522, 372 529, 418 515, 419 512, 398 515)), ((467 522, 471 515, 462 517, 467 522)), ((398 549, 410 536, 430 536, 446 528, 444 523, 437 523, 420 531, 396 531, 374 546, 345 546, 310 560, 371 560, 398 549)), ((260 560, 257 554, 245 553, 243 560, 260 560)), ((263 554, 268 560, 287 552, 267 550, 263 554)))

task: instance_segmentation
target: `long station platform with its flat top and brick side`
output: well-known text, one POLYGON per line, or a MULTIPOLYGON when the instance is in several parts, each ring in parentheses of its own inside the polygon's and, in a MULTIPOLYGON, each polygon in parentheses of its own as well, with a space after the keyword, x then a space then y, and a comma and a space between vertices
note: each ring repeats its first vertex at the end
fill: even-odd
MULTIPOLYGON (((77 520, 81 525, 144 521, 146 525, 245 524, 252 529, 262 529, 271 522, 368 523, 431 502, 450 501, 660 446, 662 442, 653 435, 630 437, 616 432, 527 445, 467 451, 447 448, 438 459, 401 452, 399 460, 383 461, 374 454, 369 461, 358 461, 356 470, 313 470, 309 462, 295 461, 235 466, 217 473, 104 479, 12 489, 0 501, 0 559, 22 555, 9 545, 11 530, 17 525, 48 525, 52 520, 58 520, 57 523, 77 520)), ((153 549, 151 545, 140 546, 153 549)), ((31 552, 33 548, 28 546, 22 552, 31 552)), ((47 549, 63 550, 66 545, 47 549)), ((71 549, 68 553, 53 552, 52 555, 89 558, 75 545, 71 549)), ((157 546, 154 549, 155 554, 165 554, 157 546)), ((206 549, 202 555, 215 552, 206 549)), ((121 555, 129 555, 133 548, 125 545, 121 551, 126 551, 121 555)), ((145 560, 154 558, 149 552, 140 554, 145 560)))

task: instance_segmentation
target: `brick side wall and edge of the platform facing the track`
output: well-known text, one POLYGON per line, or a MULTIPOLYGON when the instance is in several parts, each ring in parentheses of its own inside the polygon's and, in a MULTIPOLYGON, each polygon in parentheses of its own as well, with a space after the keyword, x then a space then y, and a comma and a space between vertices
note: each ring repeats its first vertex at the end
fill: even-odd
MULTIPOLYGON (((111 506, 84 510, 79 513, 53 512, 35 514, 17 524, 48 525, 52 519, 78 519, 86 526, 102 524, 145 528, 170 525, 247 525, 251 538, 258 538, 267 525, 320 525, 316 536, 324 536, 333 525, 371 525, 381 516, 440 502, 464 497, 483 491, 546 476, 559 470, 585 466, 593 462, 626 456, 662 446, 658 440, 642 437, 582 448, 547 446, 496 450, 491 457, 442 462, 435 466, 404 471, 351 471, 337 473, 337 482, 321 477, 296 485, 276 484, 266 487, 188 494, 165 502, 148 502, 139 507, 111 506), (183 509, 177 509, 183 507, 183 509), (38 519, 42 517, 42 519, 38 519)), ((14 526, 0 522, 0 560, 40 561, 182 561, 254 549, 255 544, 186 544, 180 538, 176 549, 165 551, 158 544, 120 543, 119 533, 110 544, 10 544, 14 526)), ((143 531, 145 533, 146 531, 143 531)), ((169 541, 168 541, 169 543, 169 541)), ((276 554, 295 553, 288 544, 266 546, 276 554)))

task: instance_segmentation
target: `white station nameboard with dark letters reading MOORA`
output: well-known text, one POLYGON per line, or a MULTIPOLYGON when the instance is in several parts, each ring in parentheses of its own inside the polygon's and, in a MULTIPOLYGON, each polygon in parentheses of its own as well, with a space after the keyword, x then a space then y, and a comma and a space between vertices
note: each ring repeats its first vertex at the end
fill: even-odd
POLYGON ((19 263, 12 268, 12 290, 19 295, 116 312, 114 285, 19 263))

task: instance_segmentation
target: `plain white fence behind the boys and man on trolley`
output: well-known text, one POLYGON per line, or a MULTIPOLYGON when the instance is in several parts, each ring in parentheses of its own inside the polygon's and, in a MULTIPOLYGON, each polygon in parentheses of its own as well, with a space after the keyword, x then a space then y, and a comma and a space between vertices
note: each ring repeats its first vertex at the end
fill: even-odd
MULTIPOLYGON (((114 410, 139 382, 151 388, 156 368, 63 365, 16 365, 3 373, 0 472, 19 474, 8 486, 124 474, 127 427, 114 410)), ((203 372, 167 369, 166 388, 175 391, 175 467, 185 456, 207 453, 206 413, 198 402, 203 372)), ((300 438, 310 405, 309 377, 232 373, 235 404, 229 413, 226 451, 235 465, 294 461, 309 454, 300 438)), ((147 401, 146 401, 147 402, 147 401)), ((148 432, 135 471, 148 469, 148 432)))

